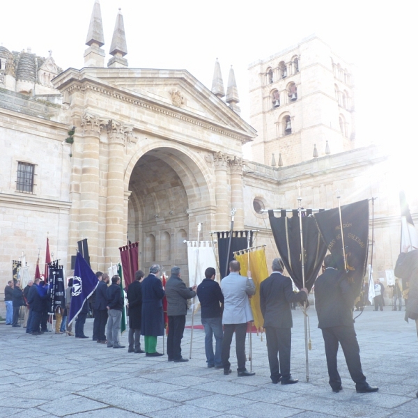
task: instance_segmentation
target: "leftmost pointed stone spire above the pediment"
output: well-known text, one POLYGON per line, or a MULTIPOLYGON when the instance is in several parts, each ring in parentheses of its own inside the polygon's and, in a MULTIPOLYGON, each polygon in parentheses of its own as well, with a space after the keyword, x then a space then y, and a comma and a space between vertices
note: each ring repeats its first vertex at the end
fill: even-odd
POLYGON ((91 13, 90 26, 86 38, 88 48, 84 51, 84 65, 86 67, 104 67, 104 45, 102 12, 99 0, 95 0, 91 13))

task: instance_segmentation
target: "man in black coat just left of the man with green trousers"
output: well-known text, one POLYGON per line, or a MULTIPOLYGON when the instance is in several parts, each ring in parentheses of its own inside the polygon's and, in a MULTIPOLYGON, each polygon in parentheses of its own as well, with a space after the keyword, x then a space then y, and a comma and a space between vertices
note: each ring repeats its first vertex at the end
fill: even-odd
POLYGON ((135 272, 135 279, 127 288, 127 302, 129 309, 128 353, 145 353, 144 350, 141 350, 141 342, 139 341, 142 316, 141 281, 144 279, 144 276, 145 274, 142 270, 135 272))

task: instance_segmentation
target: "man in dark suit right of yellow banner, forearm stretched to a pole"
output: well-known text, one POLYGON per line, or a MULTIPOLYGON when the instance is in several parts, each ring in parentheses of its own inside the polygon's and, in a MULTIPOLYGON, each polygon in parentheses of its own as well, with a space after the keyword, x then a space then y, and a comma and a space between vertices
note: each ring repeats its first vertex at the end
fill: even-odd
POLYGON ((303 288, 298 293, 293 292, 291 279, 283 275, 283 263, 280 258, 274 258, 272 270, 270 277, 262 281, 260 286, 260 306, 267 337, 270 378, 273 383, 279 383, 281 380, 281 385, 291 385, 298 382, 297 379, 291 378, 291 302, 307 300, 308 291, 303 288))

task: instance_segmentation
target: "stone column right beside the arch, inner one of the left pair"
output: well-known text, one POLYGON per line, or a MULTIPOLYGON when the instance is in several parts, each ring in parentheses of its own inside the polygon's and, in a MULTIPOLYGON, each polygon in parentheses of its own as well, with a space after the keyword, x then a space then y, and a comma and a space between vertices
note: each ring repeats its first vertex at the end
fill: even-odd
POLYGON ((125 148, 127 128, 117 121, 109 121, 107 137, 109 139, 109 164, 107 169, 105 265, 109 265, 110 260, 116 263, 121 258, 119 247, 126 244, 123 148, 125 148))

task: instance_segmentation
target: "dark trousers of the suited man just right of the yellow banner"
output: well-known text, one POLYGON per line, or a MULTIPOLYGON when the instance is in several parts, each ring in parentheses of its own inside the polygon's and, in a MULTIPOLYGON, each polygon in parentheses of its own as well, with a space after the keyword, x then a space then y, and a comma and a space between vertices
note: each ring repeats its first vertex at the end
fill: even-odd
POLYGON ((267 338, 268 364, 270 364, 271 380, 273 382, 279 382, 280 378, 282 378, 282 380, 290 379, 292 348, 291 328, 265 327, 265 336, 267 338), (279 359, 277 359, 277 353, 279 353, 279 359))

